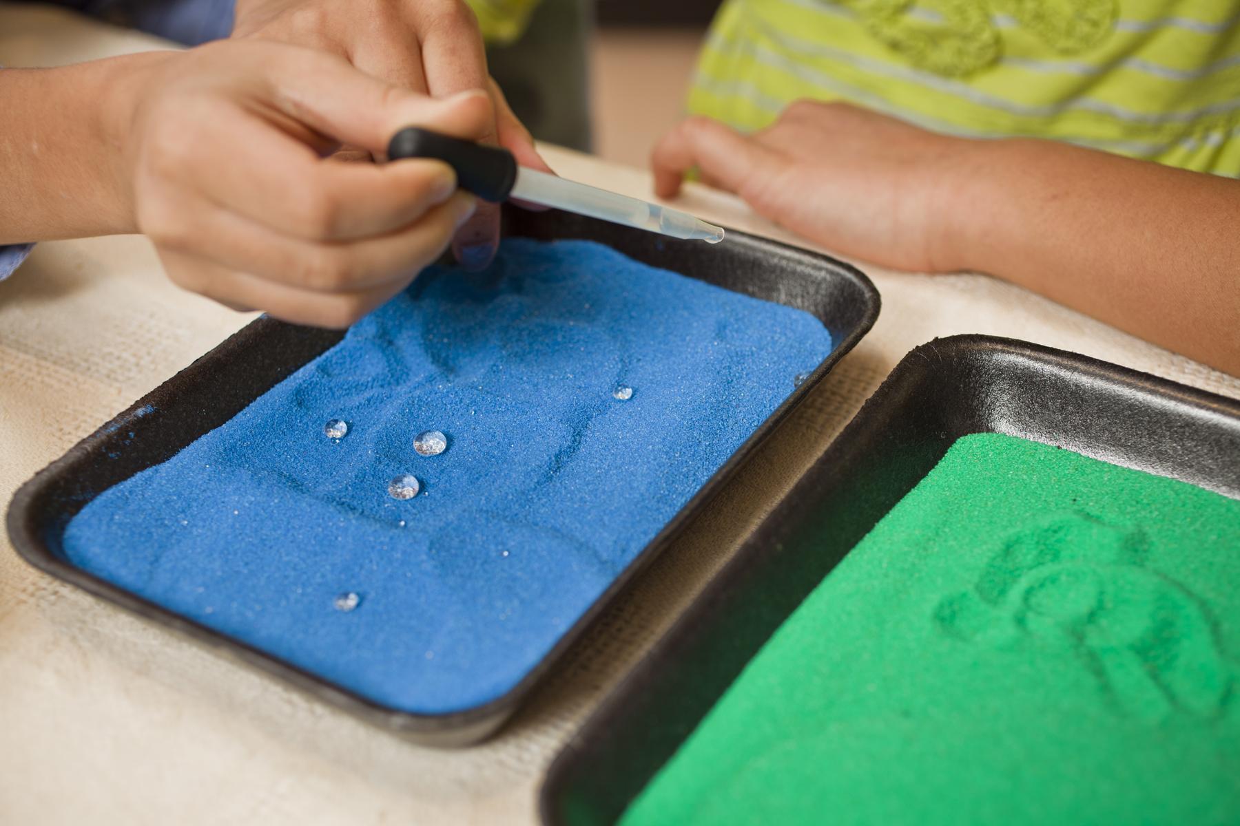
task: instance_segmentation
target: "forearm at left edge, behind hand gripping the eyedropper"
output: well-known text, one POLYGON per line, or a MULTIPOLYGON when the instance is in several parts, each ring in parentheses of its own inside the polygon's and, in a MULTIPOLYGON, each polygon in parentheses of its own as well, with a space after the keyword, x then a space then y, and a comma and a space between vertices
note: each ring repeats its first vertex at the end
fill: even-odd
POLYGON ((136 80, 166 58, 0 71, 0 244, 135 232, 122 159, 136 80))

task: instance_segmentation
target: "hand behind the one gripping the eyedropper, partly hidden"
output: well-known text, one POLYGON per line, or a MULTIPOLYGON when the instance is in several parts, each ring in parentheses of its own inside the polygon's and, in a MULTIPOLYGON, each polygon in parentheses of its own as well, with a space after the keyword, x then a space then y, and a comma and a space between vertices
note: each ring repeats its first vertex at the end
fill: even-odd
MULTIPOLYGON (((331 52, 367 74, 436 98, 482 89, 495 108, 482 141, 506 147, 522 166, 551 171, 487 74, 477 20, 463 0, 237 0, 236 14, 233 37, 331 52)), ((498 206, 482 203, 453 249, 463 265, 482 269, 498 238, 498 206)))

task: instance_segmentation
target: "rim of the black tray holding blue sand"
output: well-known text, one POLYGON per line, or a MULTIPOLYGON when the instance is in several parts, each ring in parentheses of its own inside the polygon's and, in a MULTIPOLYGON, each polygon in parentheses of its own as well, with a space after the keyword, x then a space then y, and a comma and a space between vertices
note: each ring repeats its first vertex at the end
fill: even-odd
MULTIPOLYGON (((579 217, 572 217, 578 220, 579 217)), ((604 222, 594 219, 580 219, 580 225, 587 229, 604 225, 604 222)), ((610 227, 610 224, 606 224, 610 227)), ((556 224, 557 229, 559 224, 556 224)), ((569 224, 572 229, 573 224, 569 224)), ((676 511, 676 514, 663 525, 662 529, 629 561, 629 563, 615 576, 608 587, 590 603, 568 629, 560 634, 547 654, 529 669, 511 689, 502 695, 485 703, 451 711, 445 713, 424 713, 402 711, 387 706, 376 700, 371 700, 358 692, 346 689, 330 680, 303 669, 293 663, 268 654, 262 649, 218 632, 211 627, 186 618, 169 608, 140 597, 120 586, 97 577, 87 571, 72 565, 53 551, 40 536, 38 502, 42 495, 55 485, 62 474, 72 464, 92 451, 99 450, 104 440, 114 431, 135 421, 143 415, 144 409, 150 404, 149 399, 167 389, 191 381, 192 373, 208 369, 218 359, 228 358, 231 353, 249 347, 252 342, 262 341, 272 328, 295 327, 284 322, 262 316, 242 327, 239 331, 227 337, 210 350, 196 358, 187 367, 177 370, 172 376, 161 381, 129 407, 115 415, 112 420, 100 425, 95 431, 69 447, 62 456, 53 459, 40 469, 29 480, 22 483, 14 493, 7 513, 6 528, 10 541, 17 555, 29 565, 47 573, 67 585, 86 591, 93 597, 109 602, 130 614, 166 627, 174 633, 188 638, 190 641, 203 645, 216 653, 224 654, 227 659, 244 663, 247 666, 257 669, 272 677, 309 693, 322 702, 330 703, 346 712, 352 713, 381 728, 394 731, 413 741, 427 746, 438 747, 464 747, 479 743, 497 732, 528 700, 529 695, 538 689, 548 674, 558 667, 569 650, 577 645, 591 629, 599 624, 599 619, 605 611, 627 589, 632 581, 645 571, 655 559, 657 559, 677 536, 697 519, 704 505, 707 505, 727 484, 738 471, 753 457, 768 437, 774 433, 787 415, 805 399, 805 396, 822 379, 831 373, 836 364, 844 358, 857 343, 873 328, 882 308, 882 297, 870 279, 858 267, 841 261, 823 253, 804 249, 773 240, 761 235, 745 233, 742 230, 725 228, 729 238, 742 238, 746 244, 776 253, 781 261, 800 260, 813 265, 822 275, 833 279, 843 279, 858 290, 862 315, 859 323, 853 327, 841 341, 835 343, 831 353, 810 373, 800 388, 796 388, 780 405, 742 442, 742 445, 728 457, 728 459, 698 488, 698 490, 676 511)), ((634 233, 639 230, 631 230, 634 233)), ((521 237, 521 233, 516 233, 521 237)), ((578 235, 556 235, 552 240, 582 239, 578 235)), ((594 240, 584 238, 582 240, 594 240)), ((671 266, 660 269, 670 269, 671 266)), ((683 275, 683 272, 681 272, 683 275)), ((686 276, 693 277, 693 276, 686 276)), ((717 285, 722 286, 722 285, 717 285)), ((728 289, 728 287, 723 287, 728 289)), ((734 290, 732 290, 735 292, 734 290)), ((782 303, 782 302, 776 302, 782 303)), ((787 306, 787 305, 785 305, 787 306)), ((811 313, 812 315, 812 313, 811 313)), ((818 320, 827 327, 826 322, 818 320)), ((322 332, 322 331, 320 331, 322 332)), ((330 347, 330 346, 329 346, 330 347)), ((304 364, 304 363, 303 363, 304 364)), ((300 365, 299 365, 300 367, 300 365)), ((285 376, 286 378, 286 376, 285 376)), ((283 381, 283 379, 280 379, 283 381)), ((274 386, 274 385, 273 385, 274 386)), ((201 435, 200 435, 201 436, 201 435)), ((153 464, 144 466, 153 467, 153 464)), ((140 471, 139 471, 140 472, 140 471)), ((133 476, 133 474, 130 474, 133 476)), ((129 477, 126 477, 129 478, 129 477)), ((98 493, 95 494, 98 495, 98 493)))

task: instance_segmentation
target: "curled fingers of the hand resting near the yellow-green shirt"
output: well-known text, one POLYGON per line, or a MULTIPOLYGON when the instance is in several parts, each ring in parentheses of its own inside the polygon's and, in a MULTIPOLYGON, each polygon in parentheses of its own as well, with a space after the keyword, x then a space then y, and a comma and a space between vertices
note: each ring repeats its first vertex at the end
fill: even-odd
POLYGON ((771 149, 709 118, 689 118, 663 136, 651 155, 655 192, 670 198, 693 167, 715 186, 744 194, 748 181, 773 171, 780 156, 771 149))

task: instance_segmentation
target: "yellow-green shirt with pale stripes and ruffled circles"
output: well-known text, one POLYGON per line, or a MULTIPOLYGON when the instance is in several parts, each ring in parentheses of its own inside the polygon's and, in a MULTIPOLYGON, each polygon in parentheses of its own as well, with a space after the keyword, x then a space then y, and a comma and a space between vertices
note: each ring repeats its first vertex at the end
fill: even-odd
POLYGON ((1240 0, 727 0, 689 110, 797 98, 1240 175, 1240 0))

